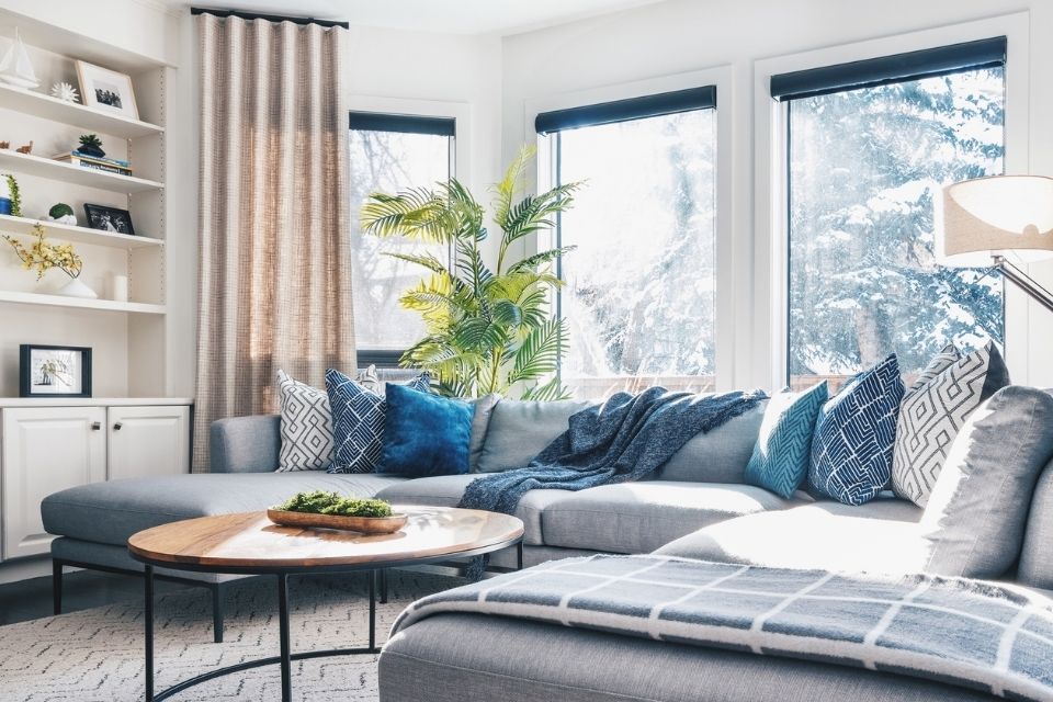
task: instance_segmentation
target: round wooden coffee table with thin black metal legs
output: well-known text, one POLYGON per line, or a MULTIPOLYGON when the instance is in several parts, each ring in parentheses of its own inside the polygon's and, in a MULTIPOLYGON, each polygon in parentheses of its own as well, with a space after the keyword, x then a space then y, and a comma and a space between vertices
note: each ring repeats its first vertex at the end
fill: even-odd
POLYGON ((279 664, 282 701, 292 700, 293 660, 373 654, 376 646, 376 575, 384 568, 477 556, 517 545, 522 567, 523 522, 508 514, 448 507, 403 507, 406 526, 394 534, 365 535, 328 529, 279 526, 263 512, 218 514, 171 522, 128 539, 132 557, 145 565, 146 700, 165 700, 197 683, 259 666, 279 664), (278 579, 281 655, 210 670, 154 693, 154 568, 199 573, 273 575, 278 579), (288 576, 370 571, 370 645, 293 654, 288 643, 288 576))

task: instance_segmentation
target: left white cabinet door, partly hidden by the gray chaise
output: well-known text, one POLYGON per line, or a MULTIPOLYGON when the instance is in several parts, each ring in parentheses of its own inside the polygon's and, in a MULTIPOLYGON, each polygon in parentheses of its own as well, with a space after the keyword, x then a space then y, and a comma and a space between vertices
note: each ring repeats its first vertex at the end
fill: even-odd
POLYGON ((41 500, 106 478, 101 407, 11 408, 3 416, 3 558, 47 553, 41 500))

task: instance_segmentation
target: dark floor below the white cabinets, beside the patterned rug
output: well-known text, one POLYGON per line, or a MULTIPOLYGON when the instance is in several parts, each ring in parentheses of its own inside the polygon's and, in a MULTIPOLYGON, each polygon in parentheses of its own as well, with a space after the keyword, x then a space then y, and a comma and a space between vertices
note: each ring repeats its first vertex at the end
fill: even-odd
MULTIPOLYGON (((172 592, 190 586, 157 580, 158 593, 172 592)), ((78 570, 63 579, 63 612, 76 612, 93 607, 143 599, 143 578, 78 570)), ((0 625, 25 622, 52 615, 52 579, 31 578, 0 585, 0 625)))

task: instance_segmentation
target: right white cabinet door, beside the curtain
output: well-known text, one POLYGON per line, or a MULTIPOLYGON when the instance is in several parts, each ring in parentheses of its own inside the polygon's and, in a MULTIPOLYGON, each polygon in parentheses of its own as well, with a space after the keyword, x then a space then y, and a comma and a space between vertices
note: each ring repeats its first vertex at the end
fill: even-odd
POLYGON ((111 407, 110 479, 190 471, 190 408, 111 407))

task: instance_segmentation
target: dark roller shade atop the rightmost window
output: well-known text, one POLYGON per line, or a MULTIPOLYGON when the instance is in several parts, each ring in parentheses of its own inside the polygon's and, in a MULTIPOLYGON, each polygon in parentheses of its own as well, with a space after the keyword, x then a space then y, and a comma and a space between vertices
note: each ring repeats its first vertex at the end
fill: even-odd
POLYGON ((1004 36, 952 44, 919 52, 809 68, 771 77, 771 97, 780 101, 825 95, 843 90, 886 86, 963 70, 1005 66, 1004 36))

